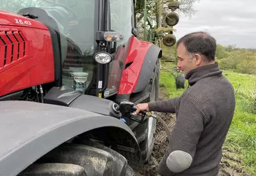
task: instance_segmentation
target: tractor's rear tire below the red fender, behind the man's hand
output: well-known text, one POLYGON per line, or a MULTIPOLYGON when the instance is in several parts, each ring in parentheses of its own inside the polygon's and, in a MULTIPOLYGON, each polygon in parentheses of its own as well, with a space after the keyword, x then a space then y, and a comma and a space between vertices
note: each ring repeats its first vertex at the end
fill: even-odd
MULTIPOLYGON (((154 75, 149 82, 151 90, 149 90, 149 98, 140 103, 149 103, 157 101, 159 97, 159 74, 160 74, 160 63, 157 60, 157 64, 154 68, 154 75)), ((154 113, 154 112, 152 112, 154 113)), ((154 118, 148 118, 144 120, 144 123, 137 125, 132 131, 137 137, 139 147, 141 150, 142 160, 144 163, 149 161, 150 155, 154 148, 154 133, 157 128, 157 120, 154 118)))

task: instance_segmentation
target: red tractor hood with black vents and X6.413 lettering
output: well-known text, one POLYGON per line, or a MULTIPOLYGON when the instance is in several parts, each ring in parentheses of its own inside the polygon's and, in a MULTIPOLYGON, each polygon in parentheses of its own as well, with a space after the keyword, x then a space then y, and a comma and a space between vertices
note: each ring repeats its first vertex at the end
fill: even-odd
POLYGON ((0 11, 0 96, 54 81, 51 36, 44 24, 0 11))

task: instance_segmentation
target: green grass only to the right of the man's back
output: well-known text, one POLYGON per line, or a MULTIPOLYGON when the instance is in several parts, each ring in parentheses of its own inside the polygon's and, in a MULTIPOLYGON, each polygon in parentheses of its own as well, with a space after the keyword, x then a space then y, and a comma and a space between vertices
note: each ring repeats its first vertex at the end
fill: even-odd
POLYGON ((225 147, 237 151, 242 167, 256 175, 256 76, 224 71, 236 92, 235 115, 225 141, 225 147))

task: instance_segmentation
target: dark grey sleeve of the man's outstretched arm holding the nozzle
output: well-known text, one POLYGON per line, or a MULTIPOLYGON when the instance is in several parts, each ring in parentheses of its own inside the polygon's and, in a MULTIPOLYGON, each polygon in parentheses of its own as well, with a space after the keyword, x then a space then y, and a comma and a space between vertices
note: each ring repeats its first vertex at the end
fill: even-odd
POLYGON ((178 99, 179 97, 149 103, 149 111, 156 111, 161 113, 175 113, 175 107, 178 99))

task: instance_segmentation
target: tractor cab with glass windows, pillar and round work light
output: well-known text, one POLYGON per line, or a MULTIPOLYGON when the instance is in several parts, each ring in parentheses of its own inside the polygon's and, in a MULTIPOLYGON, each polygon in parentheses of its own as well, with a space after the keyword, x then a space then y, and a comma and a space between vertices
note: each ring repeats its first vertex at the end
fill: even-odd
POLYGON ((134 0, 27 0, 12 12, 34 16, 49 29, 54 86, 102 98, 117 93, 124 45, 135 27, 134 0))

